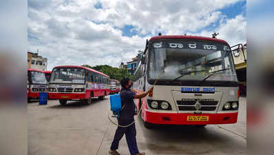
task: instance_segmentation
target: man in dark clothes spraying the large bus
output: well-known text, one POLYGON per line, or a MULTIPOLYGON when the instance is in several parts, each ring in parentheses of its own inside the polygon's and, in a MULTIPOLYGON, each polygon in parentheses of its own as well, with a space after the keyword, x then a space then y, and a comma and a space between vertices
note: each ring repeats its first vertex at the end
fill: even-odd
POLYGON ((122 90, 120 90, 121 106, 120 116, 118 116, 118 127, 116 129, 114 140, 112 141, 112 146, 110 147, 109 154, 120 155, 116 149, 118 149, 119 141, 124 136, 127 139, 127 145, 129 147, 129 152, 131 155, 143 155, 145 153, 140 153, 138 151, 136 143, 136 127, 134 122, 135 104, 134 99, 141 99, 149 92, 153 91, 154 87, 149 88, 147 92, 143 94, 136 94, 130 90, 132 83, 128 77, 122 79, 120 82, 122 85, 122 90), (132 123, 132 125, 130 125, 132 123), (129 125, 129 126, 127 126, 129 125), (126 127, 123 127, 126 126, 126 127))

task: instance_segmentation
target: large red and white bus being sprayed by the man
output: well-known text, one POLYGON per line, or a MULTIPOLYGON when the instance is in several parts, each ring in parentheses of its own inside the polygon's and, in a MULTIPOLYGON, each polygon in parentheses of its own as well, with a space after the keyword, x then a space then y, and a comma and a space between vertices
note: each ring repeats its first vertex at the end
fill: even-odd
POLYGON ((145 127, 151 124, 236 123, 239 83, 226 41, 195 36, 157 36, 145 45, 134 74, 134 91, 145 127))

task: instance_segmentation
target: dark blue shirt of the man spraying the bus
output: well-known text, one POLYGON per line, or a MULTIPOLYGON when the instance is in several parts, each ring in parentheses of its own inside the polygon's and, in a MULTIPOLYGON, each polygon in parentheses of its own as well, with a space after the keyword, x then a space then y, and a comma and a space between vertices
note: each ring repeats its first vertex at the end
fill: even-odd
POLYGON ((130 89, 122 88, 120 90, 121 105, 125 105, 123 110, 120 111, 120 118, 134 118, 135 104, 134 104, 135 92, 130 89))

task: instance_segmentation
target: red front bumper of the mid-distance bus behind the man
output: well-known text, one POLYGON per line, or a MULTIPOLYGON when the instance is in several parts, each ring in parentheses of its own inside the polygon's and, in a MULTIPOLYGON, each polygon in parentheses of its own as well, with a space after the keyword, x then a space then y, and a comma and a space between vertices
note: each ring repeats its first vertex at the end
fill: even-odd
POLYGON ((87 99, 89 96, 86 96, 86 94, 79 94, 79 93, 73 93, 73 94, 61 94, 61 93, 48 93, 48 96, 50 99, 87 99))

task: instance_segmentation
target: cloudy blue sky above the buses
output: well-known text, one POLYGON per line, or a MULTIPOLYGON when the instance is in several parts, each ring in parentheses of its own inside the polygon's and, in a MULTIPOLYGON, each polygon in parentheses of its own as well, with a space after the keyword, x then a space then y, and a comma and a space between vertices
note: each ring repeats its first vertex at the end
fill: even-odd
POLYGON ((246 42, 246 1, 28 0, 28 50, 56 65, 112 65, 162 34, 246 42))

